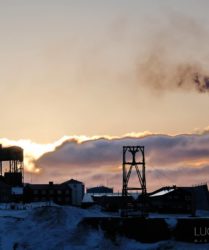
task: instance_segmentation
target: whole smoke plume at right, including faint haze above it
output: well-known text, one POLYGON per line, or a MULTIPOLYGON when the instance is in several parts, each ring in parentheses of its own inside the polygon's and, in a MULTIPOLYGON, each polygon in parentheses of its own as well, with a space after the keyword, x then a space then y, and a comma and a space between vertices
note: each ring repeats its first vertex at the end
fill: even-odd
POLYGON ((164 27, 157 27, 136 63, 136 81, 163 90, 209 92, 209 33, 191 17, 173 13, 164 27))

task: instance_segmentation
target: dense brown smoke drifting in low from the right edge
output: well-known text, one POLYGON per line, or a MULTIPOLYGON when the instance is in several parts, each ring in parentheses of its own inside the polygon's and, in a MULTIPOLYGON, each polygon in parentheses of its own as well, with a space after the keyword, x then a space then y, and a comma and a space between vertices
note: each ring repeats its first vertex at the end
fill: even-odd
POLYGON ((152 55, 139 65, 137 74, 140 84, 144 83, 157 91, 179 88, 193 89, 200 93, 209 92, 209 74, 201 64, 171 64, 162 57, 152 55))

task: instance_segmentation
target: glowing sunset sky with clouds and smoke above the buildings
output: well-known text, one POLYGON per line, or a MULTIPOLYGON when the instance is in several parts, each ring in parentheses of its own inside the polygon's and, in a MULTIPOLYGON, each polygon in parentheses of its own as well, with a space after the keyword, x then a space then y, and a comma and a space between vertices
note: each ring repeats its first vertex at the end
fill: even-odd
MULTIPOLYGON (((26 180, 59 182, 67 174, 118 189, 120 158, 104 160, 101 145, 92 146, 101 138, 120 154, 127 138, 135 145, 157 137, 161 145, 163 136, 191 137, 199 152, 209 126, 208 9, 204 0, 0 1, 0 141, 24 148, 26 180), (92 153, 99 179, 86 151, 85 176, 80 157, 78 164, 65 157, 77 159, 86 147, 100 152, 92 153)), ((168 153, 169 167, 160 166, 158 144, 147 145, 148 163, 159 171, 177 176, 183 168, 190 184, 207 181, 206 154, 184 152, 187 159, 174 164, 168 153)), ((147 178, 160 185, 154 172, 147 178)))

